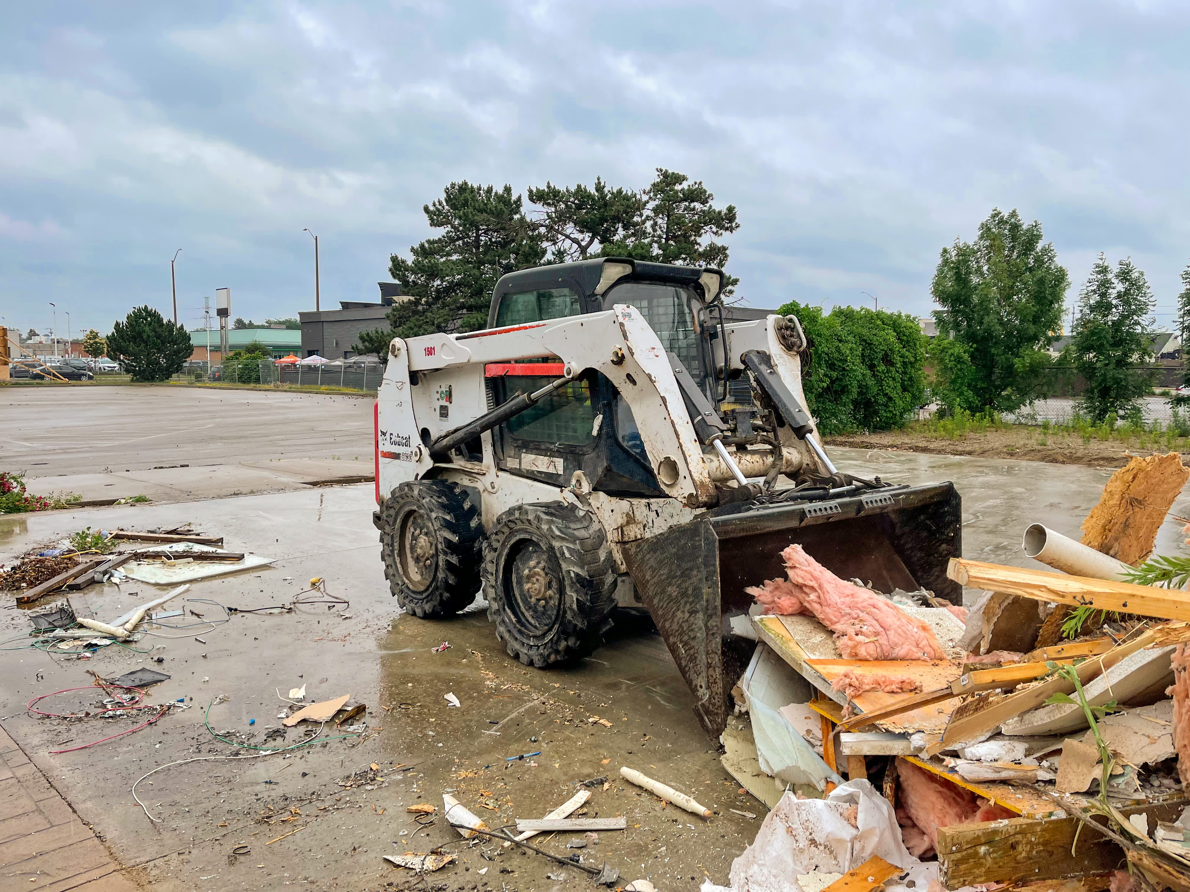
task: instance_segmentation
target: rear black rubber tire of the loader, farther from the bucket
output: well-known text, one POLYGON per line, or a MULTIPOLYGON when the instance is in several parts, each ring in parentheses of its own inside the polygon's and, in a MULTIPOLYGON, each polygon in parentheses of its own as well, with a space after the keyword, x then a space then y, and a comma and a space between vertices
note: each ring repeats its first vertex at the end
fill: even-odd
POLYGON ((394 489, 381 513, 380 542, 389 590, 406 611, 439 620, 475 601, 483 524, 457 483, 407 480, 394 489), (420 553, 411 554, 411 540, 420 553))

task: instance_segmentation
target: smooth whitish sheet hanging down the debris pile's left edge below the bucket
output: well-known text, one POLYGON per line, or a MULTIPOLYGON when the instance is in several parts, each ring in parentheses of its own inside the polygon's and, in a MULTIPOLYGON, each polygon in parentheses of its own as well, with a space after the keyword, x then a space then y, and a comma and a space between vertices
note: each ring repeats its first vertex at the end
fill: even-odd
POLYGON ((810 686, 764 642, 757 645, 740 687, 747 698, 762 771, 787 784, 813 784, 818 790, 823 790, 828 780, 843 783, 781 715, 782 706, 809 701, 810 686))

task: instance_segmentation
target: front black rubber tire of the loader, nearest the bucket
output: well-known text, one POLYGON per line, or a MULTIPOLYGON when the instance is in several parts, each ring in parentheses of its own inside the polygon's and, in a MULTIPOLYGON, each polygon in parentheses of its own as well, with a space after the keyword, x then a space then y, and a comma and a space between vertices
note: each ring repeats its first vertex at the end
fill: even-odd
POLYGON ((615 582, 603 526, 572 505, 511 508, 484 541, 488 618, 508 654, 526 666, 593 653, 612 628, 615 582))

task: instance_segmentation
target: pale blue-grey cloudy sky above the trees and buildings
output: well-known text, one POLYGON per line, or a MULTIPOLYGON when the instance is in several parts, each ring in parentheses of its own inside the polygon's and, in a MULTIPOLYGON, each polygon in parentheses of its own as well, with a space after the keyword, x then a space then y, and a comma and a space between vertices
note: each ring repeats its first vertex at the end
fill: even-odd
MULTIPOLYGON (((939 250, 1040 219, 1075 287, 1190 262, 1190 6, 1175 2, 5 4, 0 316, 106 332, 375 300, 452 180, 739 208, 746 303, 925 314, 939 250)), ((1159 315, 1167 321, 1169 315, 1159 315)))

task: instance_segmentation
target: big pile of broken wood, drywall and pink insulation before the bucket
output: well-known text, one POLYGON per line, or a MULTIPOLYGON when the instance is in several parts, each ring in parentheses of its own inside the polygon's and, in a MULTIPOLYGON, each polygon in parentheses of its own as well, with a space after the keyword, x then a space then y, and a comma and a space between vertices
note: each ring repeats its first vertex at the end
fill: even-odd
POLYGON ((785 548, 721 737, 771 809, 732 890, 1190 891, 1190 559, 1146 563, 1188 477, 1134 459, 1082 542, 1029 528, 1044 570, 951 559, 970 611, 785 548))

